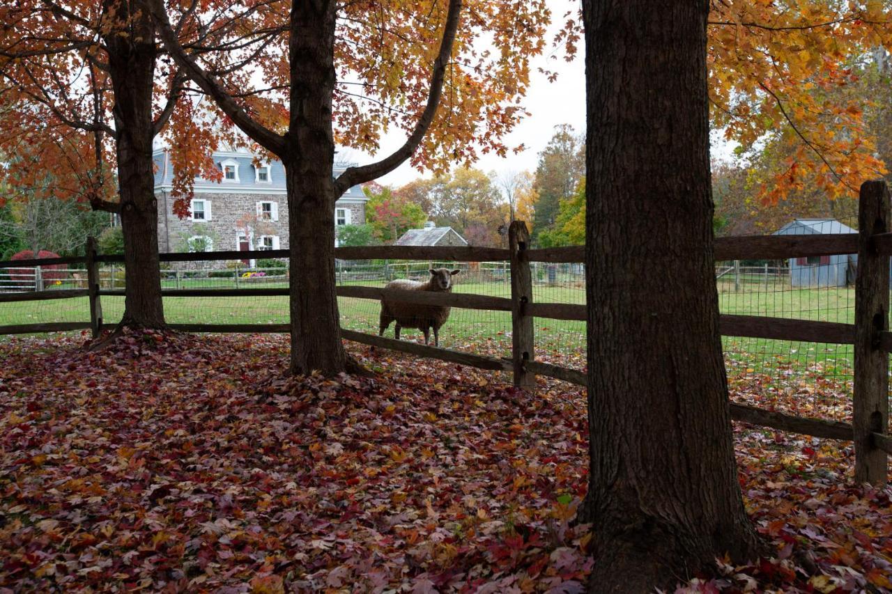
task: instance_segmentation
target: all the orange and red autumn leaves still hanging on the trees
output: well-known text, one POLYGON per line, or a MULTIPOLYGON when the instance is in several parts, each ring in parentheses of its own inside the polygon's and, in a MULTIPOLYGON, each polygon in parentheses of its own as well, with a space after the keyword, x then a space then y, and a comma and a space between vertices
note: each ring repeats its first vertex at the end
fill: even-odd
MULTIPOLYGON (((98 114, 103 125, 113 127, 110 87, 102 69, 104 50, 96 34, 116 26, 114 13, 103 12, 95 0, 58 3, 64 12, 34 0, 17 4, 0 8, 0 18, 13 23, 0 32, 0 152, 12 164, 4 175, 11 180, 13 174, 18 176, 18 185, 42 187, 37 175, 53 171, 56 186, 50 191, 57 195, 87 200, 85 192, 101 189, 110 197, 110 129, 104 130, 103 153, 97 160, 94 134, 72 125, 93 125, 98 114), (22 12, 28 8, 24 4, 32 3, 22 12), (91 64, 98 93, 85 83, 91 64), (75 77, 83 84, 64 84, 75 77), (36 156, 10 160, 24 154, 36 156), (105 162, 98 167, 97 161, 105 162)), ((193 43, 211 70, 226 71, 221 78, 227 90, 252 117, 270 128, 283 128, 290 102, 284 27, 288 4, 200 4, 194 12, 187 4, 169 4, 173 20, 182 21, 184 44, 193 43), (219 14, 216 21, 207 20, 211 12, 219 14), (198 17, 204 21, 199 23, 198 17), (198 31, 206 38, 194 43, 198 31), (240 67, 246 64, 250 67, 240 67)), ((442 0, 343 5, 334 65, 343 84, 333 97, 339 144, 374 151, 385 129, 414 126, 425 103, 445 5, 442 0)), ((892 45, 886 3, 714 0, 711 8, 713 123, 745 149, 757 150, 764 142, 777 145, 780 157, 758 180, 767 202, 805 186, 816 186, 831 197, 854 195, 863 180, 886 172, 876 154, 875 132, 865 124, 865 112, 878 106, 854 90, 859 71, 872 63, 872 53, 892 45)), ((467 165, 482 153, 508 154, 518 148, 505 138, 526 115, 523 99, 532 60, 549 49, 549 41, 575 54, 579 29, 578 20, 552 12, 544 0, 467 0, 442 106, 412 157, 413 165, 442 171, 452 162, 467 165), (565 22, 549 40, 549 22, 558 20, 565 22)), ((158 76, 155 94, 161 111, 173 76, 163 51, 158 76)), ((209 152, 219 143, 235 142, 231 125, 209 102, 198 108, 195 95, 186 97, 163 133, 181 171, 175 184, 181 201, 191 194, 194 176, 212 178, 209 152), (214 128, 209 129, 209 123, 214 128)), ((187 202, 180 206, 185 209, 187 202)))

